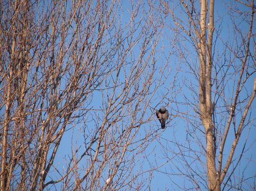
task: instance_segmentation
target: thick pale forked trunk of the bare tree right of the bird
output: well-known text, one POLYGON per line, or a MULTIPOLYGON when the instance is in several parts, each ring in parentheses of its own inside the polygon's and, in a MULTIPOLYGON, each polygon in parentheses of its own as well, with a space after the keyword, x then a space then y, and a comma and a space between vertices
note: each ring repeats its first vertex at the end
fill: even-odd
POLYGON ((206 161, 207 178, 209 190, 220 190, 218 184, 215 151, 213 141, 213 121, 212 121, 212 38, 214 31, 214 0, 209 4, 209 23, 206 25, 207 1, 201 1, 200 18, 200 112, 201 120, 206 133, 206 161), (208 38, 206 41, 206 30, 208 29, 208 38))

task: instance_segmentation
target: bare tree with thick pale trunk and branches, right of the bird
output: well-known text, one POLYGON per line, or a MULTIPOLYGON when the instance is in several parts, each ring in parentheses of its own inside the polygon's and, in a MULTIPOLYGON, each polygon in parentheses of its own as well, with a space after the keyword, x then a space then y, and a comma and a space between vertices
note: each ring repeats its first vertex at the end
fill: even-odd
POLYGON ((185 102, 179 102, 189 106, 196 114, 189 110, 183 111, 185 115, 181 113, 190 126, 187 128, 186 144, 168 140, 170 144, 177 145, 178 151, 170 150, 163 144, 167 158, 172 157, 170 153, 181 155, 175 159, 181 166, 170 162, 174 167, 165 173, 186 176, 198 190, 242 189, 246 180, 255 180, 256 176, 245 177, 241 174, 238 179, 236 175, 240 164, 243 170, 248 168, 244 164, 245 152, 253 152, 247 138, 254 139, 249 132, 255 127, 251 109, 256 93, 256 79, 253 79, 254 1, 230 2, 231 5, 226 5, 228 13, 218 17, 214 0, 161 3, 163 13, 173 21, 170 27, 176 31, 177 56, 186 63, 191 78, 197 80, 194 83, 187 78, 184 91, 190 92, 191 96, 184 93, 185 102), (214 21, 216 18, 217 21, 214 21), (223 34, 222 28, 225 32, 228 29, 232 31, 223 34), (180 43, 184 41, 187 43, 180 43), (199 118, 200 121, 197 120, 199 118), (206 144, 202 143, 203 139, 206 144), (194 144, 197 147, 192 146, 194 144), (232 177, 235 181, 231 180, 232 177))

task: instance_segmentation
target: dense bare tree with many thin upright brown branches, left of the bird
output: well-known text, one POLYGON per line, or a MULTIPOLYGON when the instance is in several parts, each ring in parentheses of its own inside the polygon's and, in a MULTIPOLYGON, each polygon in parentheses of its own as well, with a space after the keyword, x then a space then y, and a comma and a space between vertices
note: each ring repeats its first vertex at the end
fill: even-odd
POLYGON ((143 153, 169 73, 168 55, 156 65, 162 14, 141 2, 124 13, 118 1, 0 5, 1 190, 147 187, 143 153))

